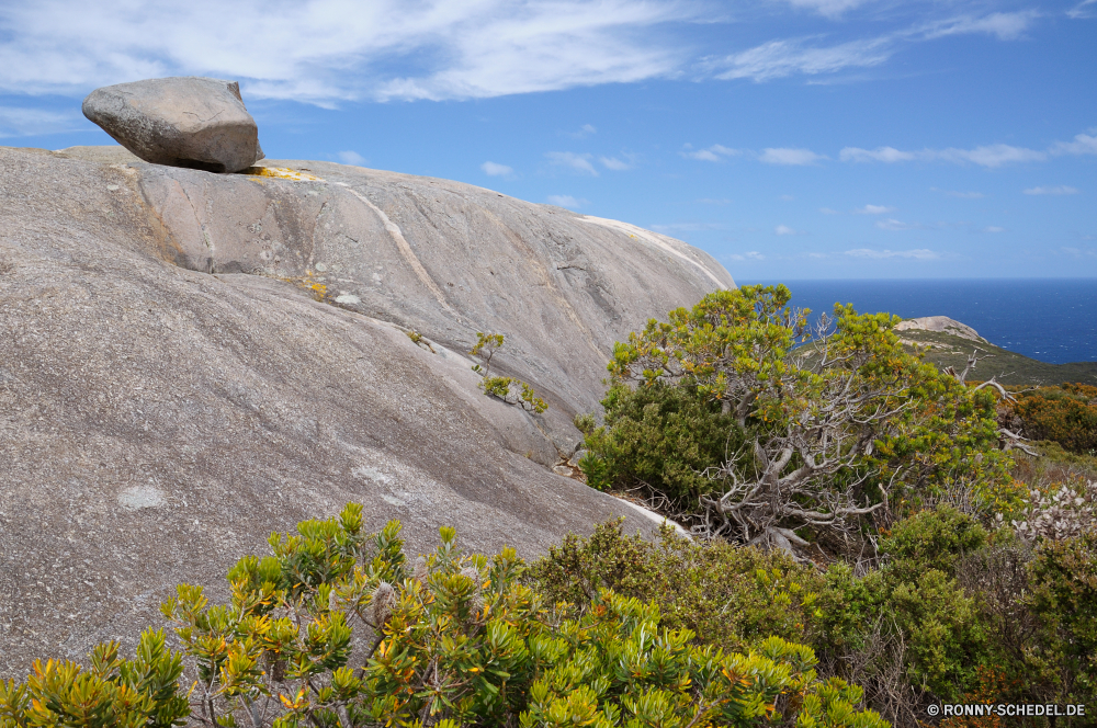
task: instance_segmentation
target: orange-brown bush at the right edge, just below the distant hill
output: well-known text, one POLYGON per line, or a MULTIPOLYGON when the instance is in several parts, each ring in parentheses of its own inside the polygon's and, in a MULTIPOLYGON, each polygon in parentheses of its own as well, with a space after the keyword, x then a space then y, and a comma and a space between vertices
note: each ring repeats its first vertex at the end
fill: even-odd
POLYGON ((1006 416, 1020 420, 1025 436, 1056 442, 1073 453, 1097 451, 1097 387, 1064 384, 1016 397, 1006 416))

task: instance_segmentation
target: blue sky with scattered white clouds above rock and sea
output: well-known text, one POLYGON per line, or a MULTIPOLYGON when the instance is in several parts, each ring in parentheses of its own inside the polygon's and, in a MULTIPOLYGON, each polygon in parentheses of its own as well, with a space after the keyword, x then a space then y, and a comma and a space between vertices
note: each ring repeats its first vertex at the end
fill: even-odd
POLYGON ((627 220, 736 278, 1097 277, 1097 0, 5 0, 0 144, 240 81, 268 157, 627 220))

